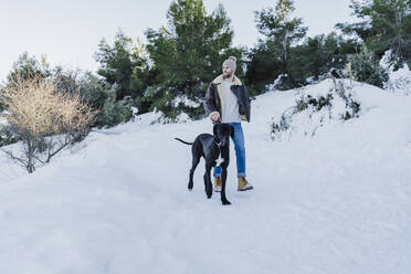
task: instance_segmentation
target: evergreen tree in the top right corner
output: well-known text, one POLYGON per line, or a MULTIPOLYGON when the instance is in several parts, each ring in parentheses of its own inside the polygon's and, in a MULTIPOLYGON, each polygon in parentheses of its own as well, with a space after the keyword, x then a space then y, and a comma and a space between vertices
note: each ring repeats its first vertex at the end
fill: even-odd
POLYGON ((378 57, 391 50, 396 68, 404 62, 411 64, 410 0, 351 0, 350 8, 362 21, 340 23, 338 28, 357 34, 378 57))

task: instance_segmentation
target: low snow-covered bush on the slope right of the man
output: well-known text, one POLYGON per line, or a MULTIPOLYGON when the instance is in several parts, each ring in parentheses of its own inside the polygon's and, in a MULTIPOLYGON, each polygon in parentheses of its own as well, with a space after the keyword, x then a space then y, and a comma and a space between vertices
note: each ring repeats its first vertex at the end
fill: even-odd
POLYGON ((273 118, 273 140, 289 139, 293 135, 314 136, 327 124, 359 116, 360 104, 355 99, 351 81, 328 78, 318 88, 302 88, 295 105, 273 118))

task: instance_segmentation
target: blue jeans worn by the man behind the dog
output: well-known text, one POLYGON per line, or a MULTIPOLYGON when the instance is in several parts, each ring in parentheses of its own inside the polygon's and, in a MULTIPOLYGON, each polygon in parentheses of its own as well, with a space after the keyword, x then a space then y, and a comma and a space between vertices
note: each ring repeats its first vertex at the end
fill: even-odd
MULTIPOLYGON (((234 127, 234 137, 231 139, 234 143, 235 158, 236 158, 236 176, 245 177, 245 147, 244 134, 241 123, 229 123, 234 127)), ((214 177, 221 177, 221 167, 214 167, 214 177)))

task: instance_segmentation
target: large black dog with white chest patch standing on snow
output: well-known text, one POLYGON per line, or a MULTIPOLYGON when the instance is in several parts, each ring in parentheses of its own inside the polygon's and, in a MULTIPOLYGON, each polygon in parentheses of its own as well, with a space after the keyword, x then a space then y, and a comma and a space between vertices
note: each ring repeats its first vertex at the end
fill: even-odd
POLYGON ((190 180, 188 189, 192 190, 193 181, 192 177, 194 170, 200 162, 201 156, 205 159, 205 173, 204 173, 204 190, 207 198, 212 196, 212 183, 211 183, 211 168, 220 166, 222 169, 221 173, 221 202, 222 204, 231 204, 225 197, 225 180, 226 180, 226 168, 230 164, 230 136, 234 136, 234 128, 229 124, 214 124, 213 134, 200 134, 197 136, 193 143, 187 143, 179 138, 177 140, 192 145, 192 167, 190 169, 190 180), (220 159, 220 156, 222 159, 220 159))

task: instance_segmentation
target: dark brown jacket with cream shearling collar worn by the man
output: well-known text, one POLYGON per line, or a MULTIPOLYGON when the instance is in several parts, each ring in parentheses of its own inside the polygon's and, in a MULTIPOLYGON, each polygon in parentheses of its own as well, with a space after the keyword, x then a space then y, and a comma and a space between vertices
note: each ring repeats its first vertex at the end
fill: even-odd
MULTIPOLYGON (((224 104, 224 93, 221 88, 221 82, 223 81, 223 76, 220 75, 214 78, 207 89, 205 99, 204 99, 204 108, 207 115, 211 118, 214 113, 218 113, 220 117, 222 117, 222 108, 221 106, 224 104)), ((250 94, 246 87, 241 83, 241 81, 234 75, 233 78, 234 84, 231 86, 231 91, 234 93, 236 98, 239 99, 239 113, 243 120, 250 122, 250 94)))

